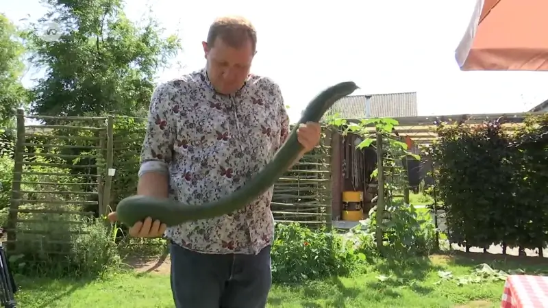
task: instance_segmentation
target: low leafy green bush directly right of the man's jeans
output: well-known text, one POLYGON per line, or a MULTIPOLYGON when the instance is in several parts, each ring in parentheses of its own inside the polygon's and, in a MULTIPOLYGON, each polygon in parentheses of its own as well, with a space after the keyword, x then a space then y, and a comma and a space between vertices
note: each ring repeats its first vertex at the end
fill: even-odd
POLYGON ((271 255, 272 277, 278 283, 343 276, 364 259, 340 235, 296 223, 276 224, 271 255))

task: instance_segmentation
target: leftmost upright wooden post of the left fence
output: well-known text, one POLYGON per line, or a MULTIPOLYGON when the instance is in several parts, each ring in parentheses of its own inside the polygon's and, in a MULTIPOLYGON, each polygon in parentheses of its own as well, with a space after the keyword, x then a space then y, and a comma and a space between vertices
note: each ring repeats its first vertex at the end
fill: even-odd
POLYGON ((21 179, 23 178, 23 151, 25 143, 25 111, 17 110, 17 140, 15 142, 15 164, 13 168, 12 199, 8 214, 8 251, 14 250, 16 235, 16 220, 18 216, 19 200, 21 199, 21 179))

